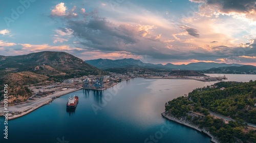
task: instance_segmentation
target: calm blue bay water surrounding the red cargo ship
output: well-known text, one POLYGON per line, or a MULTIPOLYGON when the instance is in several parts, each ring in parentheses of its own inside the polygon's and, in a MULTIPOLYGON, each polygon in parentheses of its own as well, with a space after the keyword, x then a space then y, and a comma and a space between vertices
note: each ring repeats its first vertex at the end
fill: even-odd
MULTIPOLYGON (((256 75, 226 76, 229 81, 256 80, 256 75)), ((66 110, 66 94, 9 121, 9 139, 4 139, 0 118, 0 142, 210 142, 206 135, 168 121, 161 113, 167 101, 214 83, 136 78, 102 92, 78 90, 70 93, 79 97, 75 110, 66 110)))

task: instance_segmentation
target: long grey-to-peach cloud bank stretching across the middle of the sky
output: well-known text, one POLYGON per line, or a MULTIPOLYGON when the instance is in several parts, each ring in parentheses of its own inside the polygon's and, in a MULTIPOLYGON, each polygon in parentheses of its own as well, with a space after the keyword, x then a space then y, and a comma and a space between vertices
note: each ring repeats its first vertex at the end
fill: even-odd
MULTIPOLYGON (((187 25, 180 25, 180 29, 184 32, 174 34, 177 39, 179 39, 177 35, 183 36, 182 40, 170 39, 168 35, 165 35, 165 28, 158 33, 159 28, 154 25, 116 23, 95 15, 82 20, 69 20, 67 29, 73 31, 73 35, 79 38, 76 47, 87 50, 87 52, 101 51, 109 54, 125 51, 138 56, 149 55, 154 59, 204 61, 225 58, 232 53, 232 48, 229 46, 203 45, 203 43, 209 43, 209 39, 189 38, 189 36, 199 37, 200 35, 197 29, 187 25), (220 49, 225 53, 221 53, 220 49)), ((223 39, 220 35, 214 37, 218 37, 215 38, 216 40, 223 39)))

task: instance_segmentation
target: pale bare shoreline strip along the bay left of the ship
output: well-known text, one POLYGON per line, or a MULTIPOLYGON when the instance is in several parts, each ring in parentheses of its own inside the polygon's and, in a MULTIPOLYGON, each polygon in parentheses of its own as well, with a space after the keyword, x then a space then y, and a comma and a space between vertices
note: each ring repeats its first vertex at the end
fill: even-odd
MULTIPOLYGON (((58 97, 61 97, 61 96, 64 96, 65 94, 68 94, 68 93, 71 93, 71 92, 74 92, 74 91, 77 91, 77 90, 80 90, 82 88, 73 88, 73 89, 70 89, 70 90, 66 90, 66 92, 57 92, 57 93, 54 93, 52 94, 51 96, 48 96, 44 99, 41 99, 41 100, 46 100, 44 102, 41 102, 41 103, 38 103, 37 105, 34 105, 32 107, 30 107, 31 105, 27 105, 26 107, 23 107, 25 109, 21 109, 21 110, 14 110, 14 111, 9 111, 8 113, 8 120, 13 120, 15 118, 18 118, 18 117, 21 117, 21 116, 24 116, 26 114, 29 114, 30 112, 42 107, 42 106, 45 106, 47 104, 50 104, 54 99, 58 98, 58 97), (12 115, 11 113, 12 112, 18 112, 18 114, 14 114, 12 115)), ((36 102, 36 101, 35 101, 36 102)), ((38 101, 37 101, 38 102, 38 101)), ((30 102, 31 104, 33 104, 33 102, 30 102)), ((28 104, 28 103, 27 103, 28 104)), ((21 104, 21 105, 14 105, 14 106, 8 106, 8 108, 12 107, 12 108, 15 108, 17 106, 23 106, 24 104, 21 104)), ((17 109, 20 108, 20 107, 17 107, 17 109)), ((5 113, 0 113, 0 116, 3 116, 5 113)))

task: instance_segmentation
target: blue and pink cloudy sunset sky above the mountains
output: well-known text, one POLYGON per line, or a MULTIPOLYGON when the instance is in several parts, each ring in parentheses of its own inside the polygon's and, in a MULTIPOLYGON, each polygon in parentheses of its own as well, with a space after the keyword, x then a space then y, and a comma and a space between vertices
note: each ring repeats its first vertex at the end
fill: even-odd
POLYGON ((256 1, 0 0, 0 55, 256 65, 256 1))

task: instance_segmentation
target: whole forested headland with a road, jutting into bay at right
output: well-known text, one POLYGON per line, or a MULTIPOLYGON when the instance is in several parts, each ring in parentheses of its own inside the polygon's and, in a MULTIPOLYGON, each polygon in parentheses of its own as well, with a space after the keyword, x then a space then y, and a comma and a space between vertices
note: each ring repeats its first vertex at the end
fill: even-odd
POLYGON ((197 88, 167 102, 162 115, 202 131, 213 142, 256 142, 256 81, 197 88))

